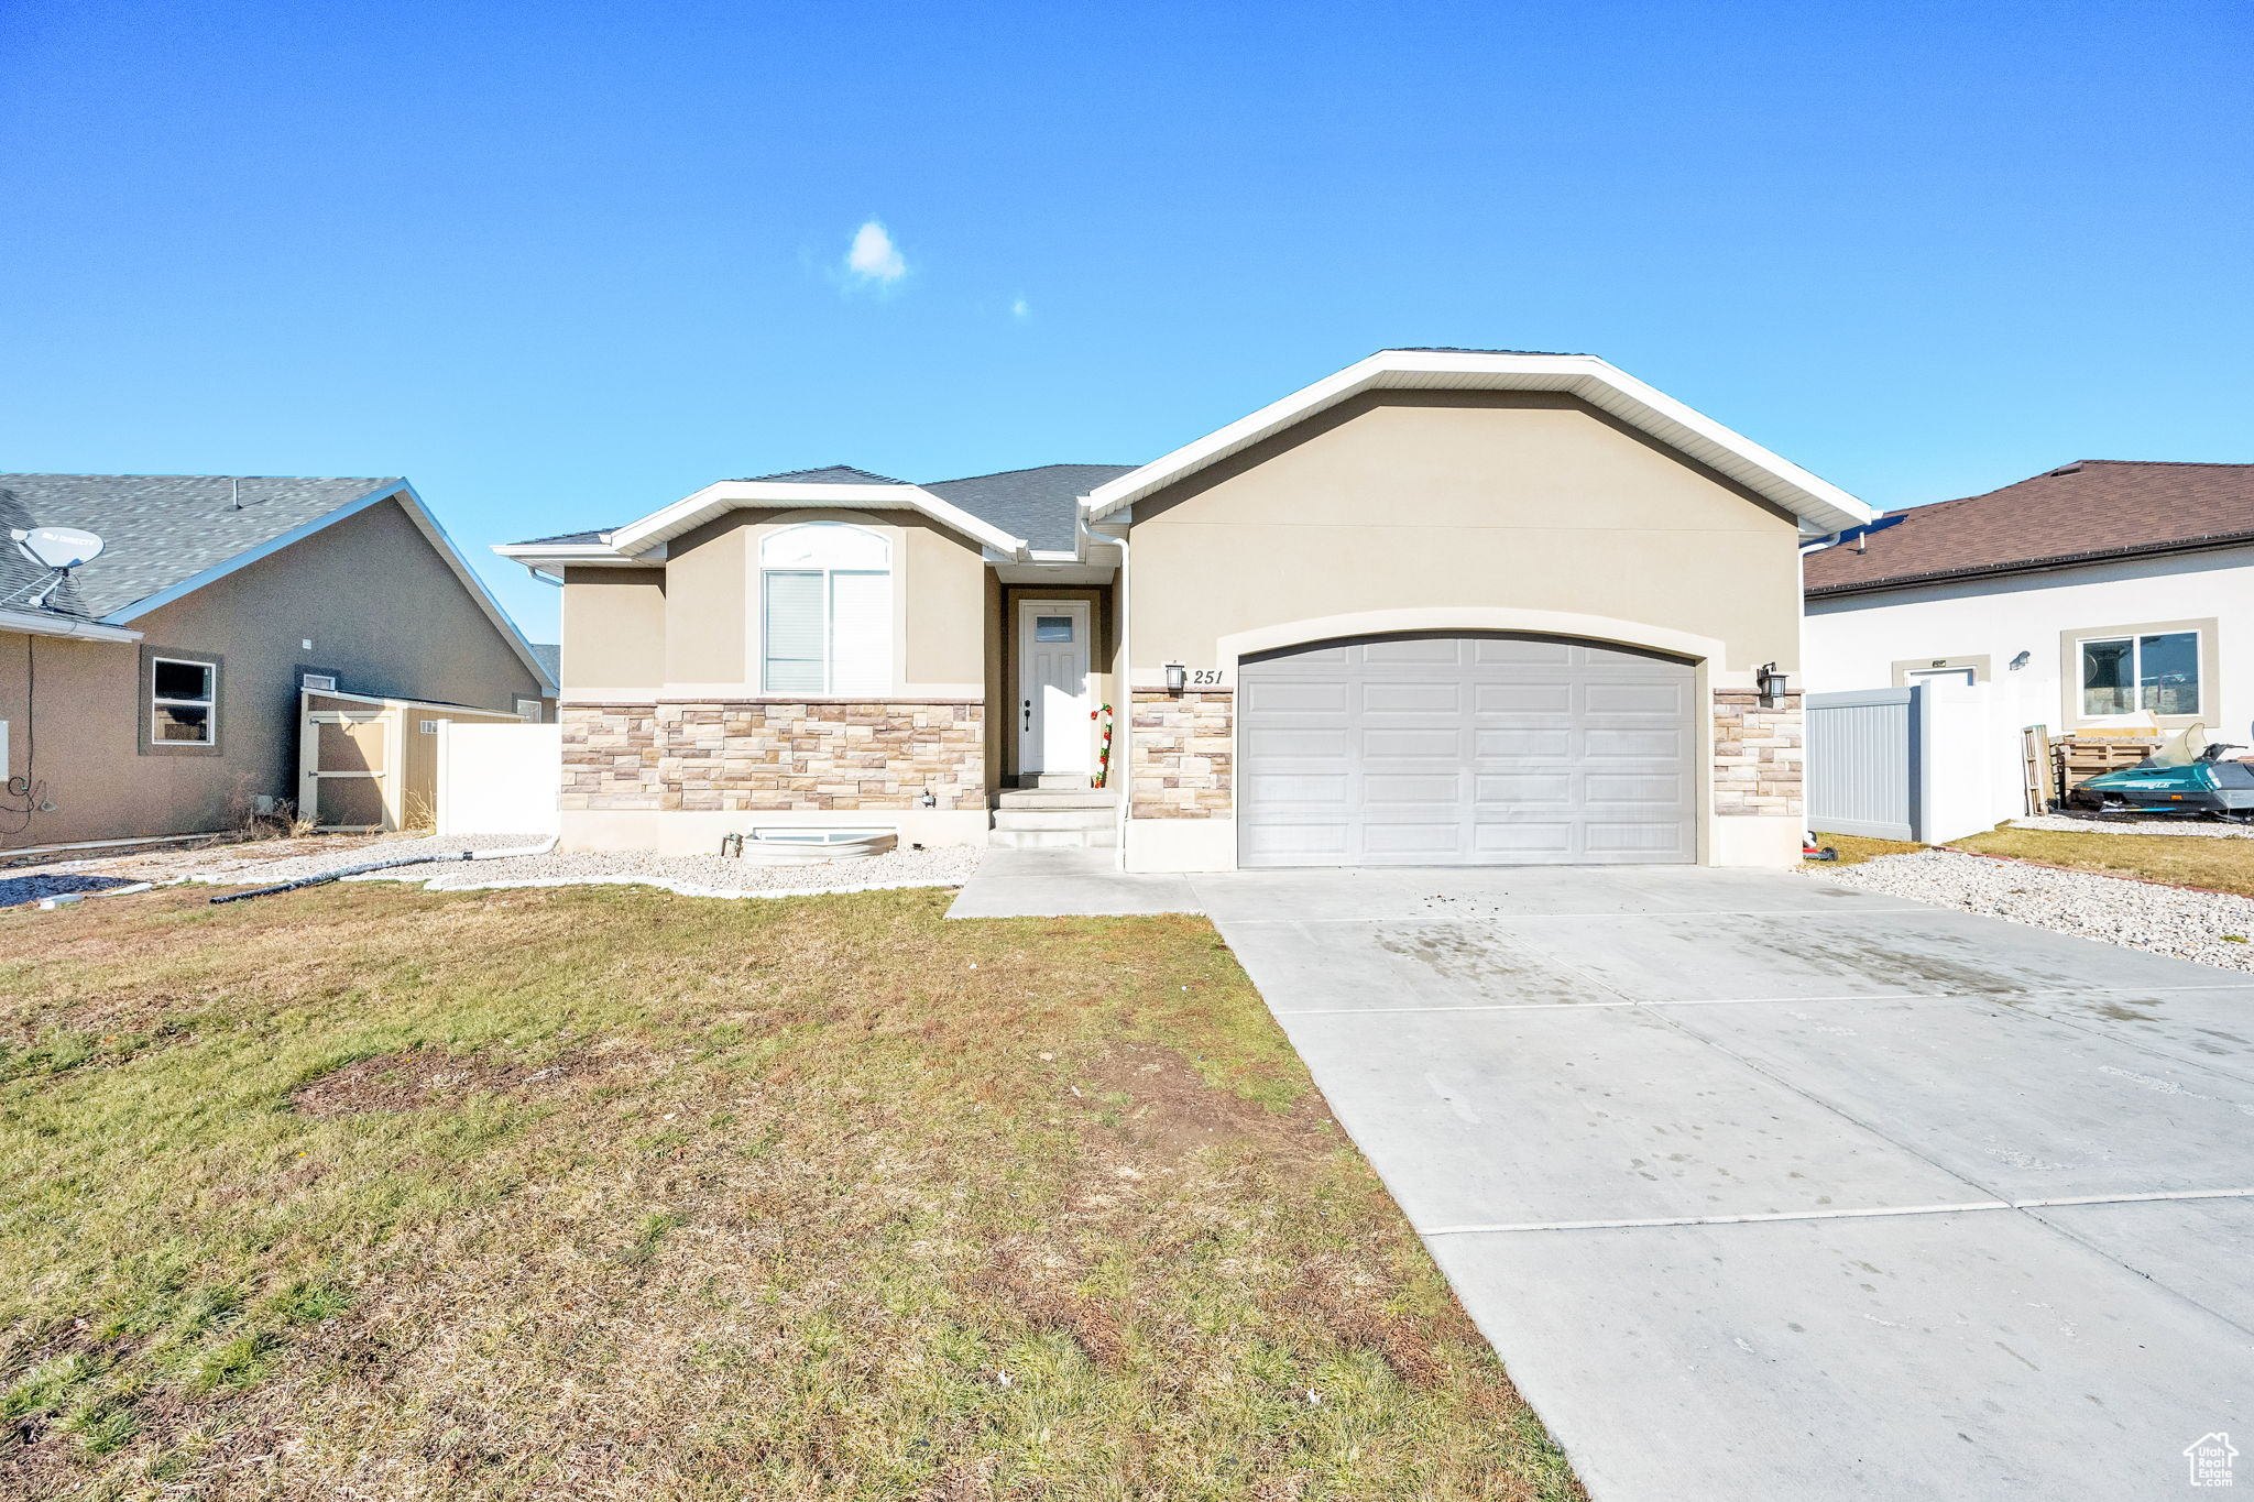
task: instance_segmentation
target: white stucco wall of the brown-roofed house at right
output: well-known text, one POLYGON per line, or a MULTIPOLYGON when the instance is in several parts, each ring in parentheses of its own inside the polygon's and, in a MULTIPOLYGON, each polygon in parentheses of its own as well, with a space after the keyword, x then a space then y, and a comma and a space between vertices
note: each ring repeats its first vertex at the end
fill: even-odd
MULTIPOLYGON (((1808 601, 1812 694, 1900 687, 1905 664, 1963 662, 2006 714, 2053 732, 2080 714, 2076 642, 2114 628, 2202 626, 2200 716, 2222 741, 2254 721, 2254 547, 2121 558, 2004 579, 1956 579, 1808 601), (2011 662, 2026 653, 2026 664, 2011 662)), ((2166 721, 2186 725, 2191 716, 2166 721)))

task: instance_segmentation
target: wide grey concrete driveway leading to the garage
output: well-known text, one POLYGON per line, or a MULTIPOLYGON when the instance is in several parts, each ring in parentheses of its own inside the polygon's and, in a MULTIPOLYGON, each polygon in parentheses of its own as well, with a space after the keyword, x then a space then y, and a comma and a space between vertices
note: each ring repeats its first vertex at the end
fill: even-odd
POLYGON ((1787 874, 1190 885, 1598 1502, 2254 1486, 2231 973, 1787 874))

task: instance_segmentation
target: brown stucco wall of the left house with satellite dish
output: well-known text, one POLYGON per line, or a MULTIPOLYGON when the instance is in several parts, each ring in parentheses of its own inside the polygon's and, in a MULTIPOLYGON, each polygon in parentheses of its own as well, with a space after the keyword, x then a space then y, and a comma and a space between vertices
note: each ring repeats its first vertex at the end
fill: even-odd
MULTIPOLYGON (((543 689, 392 502, 370 507, 133 622, 142 644, 0 635, 9 772, 34 761, 54 813, 0 813, 0 849, 241 824, 298 795, 298 678, 514 712, 543 689), (302 646, 311 642, 313 646, 302 646), (216 655, 219 748, 144 754, 142 646, 216 655), (36 712, 27 703, 36 653, 36 712)), ((7 799, 20 806, 23 799, 7 799)))

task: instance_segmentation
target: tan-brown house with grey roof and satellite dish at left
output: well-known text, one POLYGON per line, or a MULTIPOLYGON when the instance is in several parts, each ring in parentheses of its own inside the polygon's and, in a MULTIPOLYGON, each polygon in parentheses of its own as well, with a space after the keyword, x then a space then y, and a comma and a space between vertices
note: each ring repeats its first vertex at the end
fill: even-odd
POLYGON ((45 574, 0 540, 0 849, 295 802, 309 676, 527 718, 554 696, 403 480, 0 475, 0 527, 106 545, 27 608, 45 574))

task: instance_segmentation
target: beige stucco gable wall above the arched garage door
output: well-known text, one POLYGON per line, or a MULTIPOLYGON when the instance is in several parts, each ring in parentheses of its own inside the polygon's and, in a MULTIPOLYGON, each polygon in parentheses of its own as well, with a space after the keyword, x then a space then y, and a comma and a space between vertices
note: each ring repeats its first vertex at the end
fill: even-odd
POLYGON ((1359 399, 1134 518, 1136 682, 1386 610, 1648 624, 1727 644, 1729 671, 1799 658, 1792 518, 1569 396, 1359 399))

